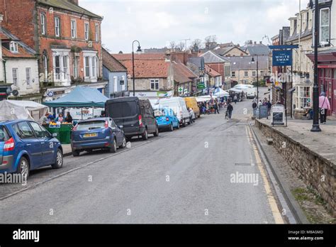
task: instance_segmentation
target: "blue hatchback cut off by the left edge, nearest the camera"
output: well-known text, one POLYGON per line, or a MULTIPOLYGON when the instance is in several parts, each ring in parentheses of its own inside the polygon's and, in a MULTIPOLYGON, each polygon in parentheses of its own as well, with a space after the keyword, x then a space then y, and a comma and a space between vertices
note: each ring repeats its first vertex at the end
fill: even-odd
POLYGON ((62 168, 60 141, 35 121, 0 121, 0 173, 21 173, 51 165, 62 168))

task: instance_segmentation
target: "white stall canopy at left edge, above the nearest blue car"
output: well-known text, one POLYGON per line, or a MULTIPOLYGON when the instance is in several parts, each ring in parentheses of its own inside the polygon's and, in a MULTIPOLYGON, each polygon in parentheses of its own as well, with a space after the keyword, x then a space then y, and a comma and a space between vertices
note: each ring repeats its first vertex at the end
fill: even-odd
POLYGON ((0 101, 0 121, 28 119, 40 121, 47 113, 47 106, 34 101, 3 100, 0 101))

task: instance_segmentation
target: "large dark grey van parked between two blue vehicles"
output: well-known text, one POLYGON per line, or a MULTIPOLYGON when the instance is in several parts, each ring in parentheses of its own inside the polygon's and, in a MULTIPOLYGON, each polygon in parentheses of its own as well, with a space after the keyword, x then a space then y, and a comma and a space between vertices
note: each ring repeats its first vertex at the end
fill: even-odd
POLYGON ((105 104, 106 115, 111 117, 123 131, 128 140, 133 136, 148 139, 148 134, 159 136, 159 127, 148 99, 120 97, 109 99, 105 104))

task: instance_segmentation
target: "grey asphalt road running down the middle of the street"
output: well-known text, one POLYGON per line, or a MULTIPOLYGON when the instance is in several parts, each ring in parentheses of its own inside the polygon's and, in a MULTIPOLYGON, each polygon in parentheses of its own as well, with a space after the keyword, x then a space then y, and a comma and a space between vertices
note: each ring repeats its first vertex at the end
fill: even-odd
POLYGON ((33 172, 28 185, 1 185, 7 224, 283 223, 247 118, 251 101, 118 153, 66 157, 33 172), (247 111, 248 110, 248 111, 247 111), (237 175, 258 180, 234 181, 237 175), (23 190, 23 191, 22 191, 23 190))

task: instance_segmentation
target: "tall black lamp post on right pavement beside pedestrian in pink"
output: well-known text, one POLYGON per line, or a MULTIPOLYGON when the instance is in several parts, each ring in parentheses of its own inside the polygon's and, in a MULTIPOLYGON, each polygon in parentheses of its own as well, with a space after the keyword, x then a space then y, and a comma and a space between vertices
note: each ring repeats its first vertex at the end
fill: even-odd
POLYGON ((318 13, 318 0, 315 0, 315 44, 314 44, 314 87, 313 87, 313 128, 311 132, 320 132, 320 124, 318 123, 318 27, 319 27, 319 13, 318 13))

